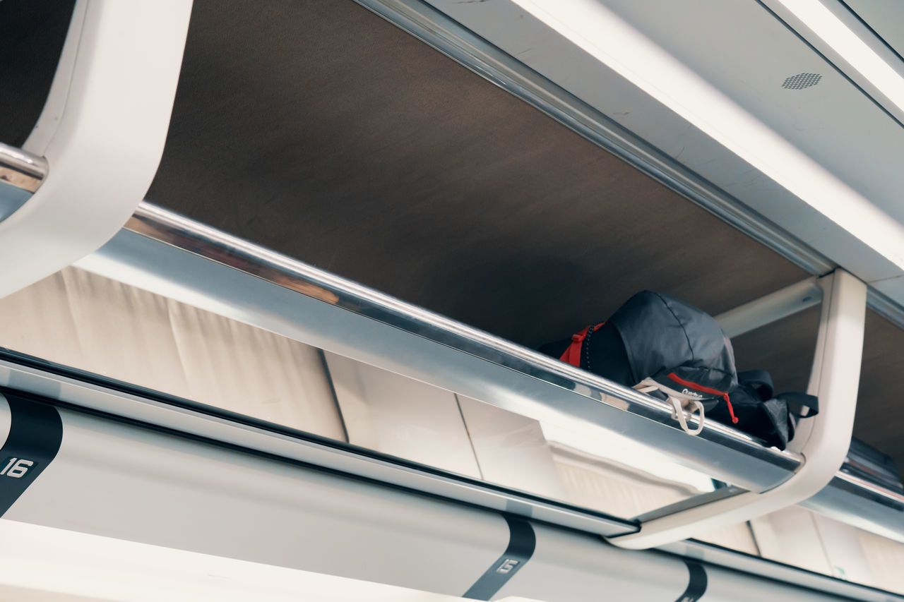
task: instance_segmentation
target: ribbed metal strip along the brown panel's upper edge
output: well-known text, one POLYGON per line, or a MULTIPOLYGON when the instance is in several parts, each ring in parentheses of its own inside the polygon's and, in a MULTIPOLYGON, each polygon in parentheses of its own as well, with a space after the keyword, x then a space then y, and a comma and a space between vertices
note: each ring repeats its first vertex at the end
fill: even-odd
POLYGON ((629 165, 730 223, 750 238, 823 275, 835 264, 729 193, 607 118, 423 0, 355 0, 391 24, 524 100, 629 165))

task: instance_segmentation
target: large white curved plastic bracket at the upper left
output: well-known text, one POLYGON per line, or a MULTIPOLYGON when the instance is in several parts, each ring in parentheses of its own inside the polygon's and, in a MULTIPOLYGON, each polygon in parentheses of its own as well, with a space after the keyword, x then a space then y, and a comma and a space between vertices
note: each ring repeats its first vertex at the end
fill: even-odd
POLYGON ((24 150, 50 174, 0 222, 0 296, 98 249, 135 211, 163 155, 191 0, 80 0, 24 150))

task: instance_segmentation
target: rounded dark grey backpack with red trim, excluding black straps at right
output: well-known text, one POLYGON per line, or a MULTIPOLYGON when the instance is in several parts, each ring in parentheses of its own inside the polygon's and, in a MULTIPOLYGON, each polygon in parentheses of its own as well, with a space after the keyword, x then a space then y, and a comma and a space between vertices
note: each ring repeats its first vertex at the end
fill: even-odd
POLYGON ((722 400, 730 412, 728 391, 738 383, 731 343, 719 323, 673 296, 648 290, 628 299, 606 322, 539 351, 669 400, 673 417, 692 435, 702 430, 702 401, 722 400), (697 428, 686 424, 687 404, 700 414, 697 428))

